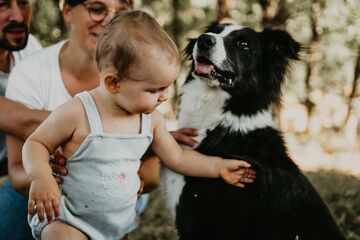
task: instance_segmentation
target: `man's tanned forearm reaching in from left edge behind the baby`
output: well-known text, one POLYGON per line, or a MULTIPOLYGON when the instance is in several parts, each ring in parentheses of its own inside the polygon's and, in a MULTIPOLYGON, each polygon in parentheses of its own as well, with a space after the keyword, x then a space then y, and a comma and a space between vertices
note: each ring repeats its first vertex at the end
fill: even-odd
POLYGON ((48 111, 29 109, 1 96, 0 109, 0 131, 22 140, 26 140, 50 114, 48 111))

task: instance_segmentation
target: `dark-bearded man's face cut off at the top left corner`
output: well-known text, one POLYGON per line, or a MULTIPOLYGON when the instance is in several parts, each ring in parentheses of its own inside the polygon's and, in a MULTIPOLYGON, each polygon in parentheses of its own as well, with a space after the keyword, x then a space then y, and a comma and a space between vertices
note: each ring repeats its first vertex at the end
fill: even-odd
POLYGON ((30 0, 0 0, 0 49, 26 47, 31 16, 30 0))

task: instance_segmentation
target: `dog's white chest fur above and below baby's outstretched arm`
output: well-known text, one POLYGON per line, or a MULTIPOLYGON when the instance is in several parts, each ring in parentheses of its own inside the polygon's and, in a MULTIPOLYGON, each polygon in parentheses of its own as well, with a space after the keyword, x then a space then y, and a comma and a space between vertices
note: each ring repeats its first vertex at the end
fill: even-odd
MULTIPOLYGON (((222 107, 229 98, 228 93, 210 87, 205 81, 194 79, 184 85, 180 103, 179 128, 198 130, 196 140, 201 142, 206 131, 213 129, 223 118, 222 107)), ((161 182, 167 207, 175 217, 176 205, 184 187, 184 176, 163 167, 161 182)))

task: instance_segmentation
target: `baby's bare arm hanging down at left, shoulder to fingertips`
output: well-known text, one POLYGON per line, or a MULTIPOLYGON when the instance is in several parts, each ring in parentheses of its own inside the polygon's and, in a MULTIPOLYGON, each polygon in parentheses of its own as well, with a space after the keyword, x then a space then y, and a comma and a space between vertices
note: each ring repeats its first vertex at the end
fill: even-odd
POLYGON ((34 206, 40 221, 44 210, 49 222, 60 214, 60 192, 49 165, 49 156, 68 141, 77 128, 81 102, 70 100, 61 105, 30 135, 23 147, 23 165, 31 180, 28 212, 34 206))

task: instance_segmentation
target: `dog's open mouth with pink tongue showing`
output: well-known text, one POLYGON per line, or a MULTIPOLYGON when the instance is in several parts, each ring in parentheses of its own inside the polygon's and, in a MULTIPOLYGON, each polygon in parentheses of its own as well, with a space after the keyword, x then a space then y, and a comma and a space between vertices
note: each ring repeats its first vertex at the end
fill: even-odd
POLYGON ((209 59, 203 56, 196 58, 194 73, 199 77, 206 78, 215 86, 231 86, 235 79, 233 72, 220 70, 209 59))

